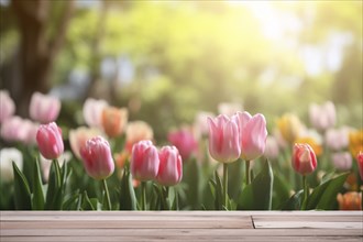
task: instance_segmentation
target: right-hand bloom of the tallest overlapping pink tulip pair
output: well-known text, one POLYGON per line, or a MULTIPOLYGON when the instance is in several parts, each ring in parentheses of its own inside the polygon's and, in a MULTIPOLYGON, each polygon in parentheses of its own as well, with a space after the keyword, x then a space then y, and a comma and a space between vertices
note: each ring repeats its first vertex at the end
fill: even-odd
POLYGON ((251 161, 263 155, 267 139, 265 117, 261 113, 252 117, 249 112, 238 112, 232 119, 239 124, 241 157, 251 161))

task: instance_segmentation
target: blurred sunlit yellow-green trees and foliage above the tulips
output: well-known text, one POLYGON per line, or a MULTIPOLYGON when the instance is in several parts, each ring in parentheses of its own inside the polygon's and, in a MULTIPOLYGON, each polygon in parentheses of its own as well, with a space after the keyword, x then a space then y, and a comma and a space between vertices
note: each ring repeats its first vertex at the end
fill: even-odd
POLYGON ((128 107, 156 140, 220 102, 274 125, 331 100, 339 124, 362 127, 361 0, 0 3, 0 89, 23 117, 38 90, 62 99, 70 128, 94 97, 128 107))

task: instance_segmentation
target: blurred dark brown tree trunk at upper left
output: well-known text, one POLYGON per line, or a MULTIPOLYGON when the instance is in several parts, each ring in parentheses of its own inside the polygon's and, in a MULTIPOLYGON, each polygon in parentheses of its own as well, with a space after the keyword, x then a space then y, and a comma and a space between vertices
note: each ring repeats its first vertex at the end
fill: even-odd
POLYGON ((13 94, 18 112, 28 116, 31 95, 47 92, 54 59, 63 45, 74 1, 12 0, 11 8, 20 32, 20 46, 14 64, 19 76, 11 78, 18 87, 13 94))

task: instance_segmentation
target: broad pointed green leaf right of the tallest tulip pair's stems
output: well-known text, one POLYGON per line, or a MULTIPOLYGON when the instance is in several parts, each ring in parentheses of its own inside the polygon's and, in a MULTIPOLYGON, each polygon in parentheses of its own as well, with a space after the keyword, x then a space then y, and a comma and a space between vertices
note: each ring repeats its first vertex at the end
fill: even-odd
POLYGON ((261 173, 241 193, 238 209, 271 210, 273 184, 274 175, 266 161, 261 173))

